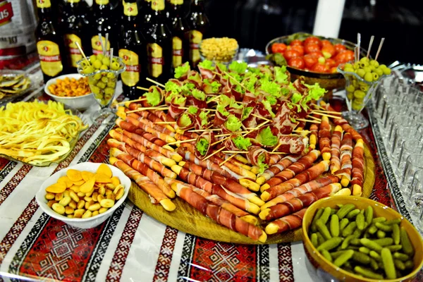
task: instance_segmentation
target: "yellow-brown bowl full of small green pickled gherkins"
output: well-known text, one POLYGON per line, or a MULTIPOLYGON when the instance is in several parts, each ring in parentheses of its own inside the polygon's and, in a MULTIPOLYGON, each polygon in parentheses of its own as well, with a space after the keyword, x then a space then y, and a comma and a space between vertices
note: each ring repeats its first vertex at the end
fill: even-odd
POLYGON ((302 221, 307 259, 339 281, 412 281, 423 266, 422 237, 390 207, 363 197, 312 204, 302 221))

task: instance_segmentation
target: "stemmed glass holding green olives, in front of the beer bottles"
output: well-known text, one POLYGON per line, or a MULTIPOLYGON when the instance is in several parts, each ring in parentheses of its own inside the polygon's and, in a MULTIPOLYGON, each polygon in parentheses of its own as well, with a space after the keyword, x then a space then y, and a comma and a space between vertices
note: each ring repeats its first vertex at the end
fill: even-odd
POLYGON ((87 61, 82 59, 77 62, 78 73, 88 78, 88 85, 94 95, 94 99, 100 106, 99 111, 94 111, 90 118, 93 123, 114 123, 110 118, 114 115, 114 110, 111 109, 111 101, 113 100, 116 85, 118 82, 118 76, 125 71, 125 63, 118 56, 113 57, 113 61, 116 61, 119 65, 118 69, 115 70, 98 70, 93 73, 84 73, 82 69, 86 66, 87 61))

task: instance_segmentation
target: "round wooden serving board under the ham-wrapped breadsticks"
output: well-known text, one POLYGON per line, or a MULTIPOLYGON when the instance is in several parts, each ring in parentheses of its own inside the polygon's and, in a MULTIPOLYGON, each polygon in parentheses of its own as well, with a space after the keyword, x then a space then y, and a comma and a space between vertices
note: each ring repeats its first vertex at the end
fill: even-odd
MULTIPOLYGON (((364 144, 364 162, 364 187, 362 189, 362 197, 368 198, 372 193, 375 177, 374 159, 366 144, 364 144)), ((128 197, 146 214, 161 223, 178 229, 179 231, 221 242, 257 245, 262 244, 248 238, 245 235, 236 233, 235 231, 231 231, 231 229, 219 225, 212 219, 209 219, 209 217, 201 214, 197 209, 191 207, 190 204, 179 197, 172 200, 173 203, 176 204, 176 210, 173 212, 166 212, 160 204, 152 204, 148 195, 134 182, 132 183, 128 197)), ((298 228, 294 231, 268 235, 266 243, 264 244, 295 242, 301 240, 301 238, 302 229, 298 228)))

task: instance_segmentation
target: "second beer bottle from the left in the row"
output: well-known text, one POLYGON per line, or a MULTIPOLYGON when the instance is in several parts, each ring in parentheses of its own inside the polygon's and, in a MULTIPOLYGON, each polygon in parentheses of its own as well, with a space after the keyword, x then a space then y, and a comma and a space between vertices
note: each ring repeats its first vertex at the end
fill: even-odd
POLYGON ((65 35, 65 49, 66 57, 68 61, 68 71, 70 73, 78 73, 77 62, 82 60, 82 54, 76 42, 82 48, 85 53, 90 53, 90 35, 87 34, 87 30, 90 30, 90 23, 85 18, 82 12, 81 0, 67 0, 66 2, 66 25, 64 27, 65 35))

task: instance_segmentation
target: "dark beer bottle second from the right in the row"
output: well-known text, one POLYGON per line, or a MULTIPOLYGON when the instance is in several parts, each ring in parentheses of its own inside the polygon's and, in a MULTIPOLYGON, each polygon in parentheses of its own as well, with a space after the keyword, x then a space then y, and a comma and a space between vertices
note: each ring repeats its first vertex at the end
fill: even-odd
POLYGON ((190 27, 183 15, 183 0, 170 0, 169 18, 172 29, 172 63, 176 68, 189 61, 190 27))

